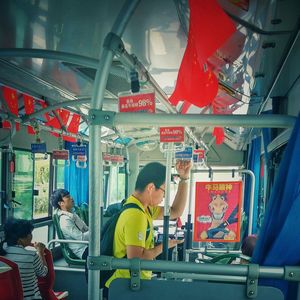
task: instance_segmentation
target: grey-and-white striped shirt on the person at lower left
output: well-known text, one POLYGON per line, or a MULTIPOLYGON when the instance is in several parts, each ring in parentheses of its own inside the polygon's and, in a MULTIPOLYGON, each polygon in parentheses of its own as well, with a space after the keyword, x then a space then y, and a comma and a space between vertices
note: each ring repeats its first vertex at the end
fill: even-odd
POLYGON ((5 257, 14 261, 19 267, 24 300, 42 299, 37 276, 46 276, 48 268, 43 265, 38 254, 19 245, 7 246, 4 250, 7 252, 5 257))

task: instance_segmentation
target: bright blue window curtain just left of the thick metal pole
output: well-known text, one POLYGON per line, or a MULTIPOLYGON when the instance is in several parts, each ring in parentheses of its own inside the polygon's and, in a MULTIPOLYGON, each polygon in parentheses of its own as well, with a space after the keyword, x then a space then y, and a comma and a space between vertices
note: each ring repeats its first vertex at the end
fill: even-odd
POLYGON ((72 145, 75 143, 65 142, 65 149, 70 153, 70 166, 65 168, 65 189, 70 192, 74 203, 80 206, 82 203, 88 203, 89 199, 89 155, 87 149, 87 167, 85 169, 77 168, 76 161, 72 160, 72 145))

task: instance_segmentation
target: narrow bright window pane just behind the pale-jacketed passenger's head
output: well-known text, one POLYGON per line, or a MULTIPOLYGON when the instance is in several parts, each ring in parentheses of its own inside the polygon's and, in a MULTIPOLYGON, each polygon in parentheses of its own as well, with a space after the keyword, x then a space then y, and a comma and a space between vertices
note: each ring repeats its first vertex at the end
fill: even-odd
POLYGON ((36 158, 34 160, 33 219, 47 217, 49 210, 50 158, 49 155, 47 159, 37 156, 36 158))

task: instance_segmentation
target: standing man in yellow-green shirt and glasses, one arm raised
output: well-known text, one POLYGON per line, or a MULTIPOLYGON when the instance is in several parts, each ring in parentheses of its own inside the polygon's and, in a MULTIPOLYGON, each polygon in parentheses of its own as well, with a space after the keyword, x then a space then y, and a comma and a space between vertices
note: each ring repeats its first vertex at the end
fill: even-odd
MULTIPOLYGON (((188 181, 192 164, 190 161, 178 161, 176 170, 180 176, 178 190, 170 209, 170 218, 180 217, 184 211, 188 181)), ((147 164, 139 173, 135 185, 135 191, 127 199, 126 204, 134 203, 139 209, 127 209, 119 217, 115 235, 113 253, 114 257, 155 259, 162 253, 162 244, 154 245, 153 220, 163 219, 164 208, 159 206, 165 195, 166 167, 160 163, 147 164), (150 224, 150 233, 147 235, 147 227, 150 224), (148 236, 148 237, 147 237, 148 236), (146 238, 147 237, 147 238, 146 238)), ((169 240, 169 248, 182 243, 183 240, 169 240)), ((142 279, 151 279, 151 271, 142 271, 142 279)), ((108 288, 116 278, 130 278, 128 270, 116 270, 106 282, 108 288)))

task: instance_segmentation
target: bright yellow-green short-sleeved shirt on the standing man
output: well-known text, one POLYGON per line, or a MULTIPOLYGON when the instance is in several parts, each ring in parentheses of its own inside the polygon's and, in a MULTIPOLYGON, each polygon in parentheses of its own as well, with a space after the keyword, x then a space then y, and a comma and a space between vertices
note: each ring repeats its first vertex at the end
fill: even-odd
MULTIPOLYGON (((113 253, 114 257, 123 258, 126 256, 127 246, 139 246, 145 249, 154 247, 153 220, 155 220, 160 212, 159 207, 148 207, 145 211, 142 203, 133 196, 130 196, 126 204, 137 204, 143 211, 131 208, 125 210, 119 217, 116 224, 113 253), (150 233, 146 240, 148 222, 150 225, 150 233)), ((142 279, 151 279, 151 271, 141 271, 142 279)), ((114 274, 107 280, 105 286, 109 287, 110 283, 116 278, 130 278, 128 270, 116 270, 114 274)))

